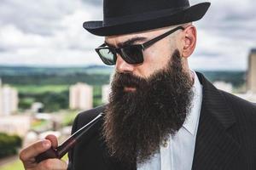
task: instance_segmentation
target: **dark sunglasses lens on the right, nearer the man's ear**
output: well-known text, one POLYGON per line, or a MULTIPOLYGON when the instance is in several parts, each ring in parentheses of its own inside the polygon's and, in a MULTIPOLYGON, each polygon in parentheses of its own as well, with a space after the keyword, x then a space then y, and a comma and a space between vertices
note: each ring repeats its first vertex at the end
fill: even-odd
POLYGON ((143 47, 141 45, 131 45, 121 48, 123 59, 129 64, 143 63, 143 47))

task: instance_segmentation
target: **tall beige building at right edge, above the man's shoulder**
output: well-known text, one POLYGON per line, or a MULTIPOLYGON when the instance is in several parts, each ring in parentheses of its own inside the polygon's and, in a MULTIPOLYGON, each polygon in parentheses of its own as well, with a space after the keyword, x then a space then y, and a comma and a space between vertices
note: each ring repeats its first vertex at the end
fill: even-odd
POLYGON ((256 94, 256 48, 251 50, 248 59, 247 91, 256 94))

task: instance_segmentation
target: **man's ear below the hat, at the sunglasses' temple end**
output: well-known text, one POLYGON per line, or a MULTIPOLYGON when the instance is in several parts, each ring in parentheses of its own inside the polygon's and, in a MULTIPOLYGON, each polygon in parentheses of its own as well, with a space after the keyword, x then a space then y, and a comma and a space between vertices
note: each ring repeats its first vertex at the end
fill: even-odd
POLYGON ((188 58, 195 50, 196 45, 196 28, 193 25, 186 27, 183 31, 183 48, 182 56, 188 58))

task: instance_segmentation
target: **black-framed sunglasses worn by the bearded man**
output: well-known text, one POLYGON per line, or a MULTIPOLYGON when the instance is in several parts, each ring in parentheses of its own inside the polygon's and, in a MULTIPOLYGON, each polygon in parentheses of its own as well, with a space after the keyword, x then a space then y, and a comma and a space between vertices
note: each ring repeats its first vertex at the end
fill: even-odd
POLYGON ((144 42, 143 44, 134 44, 134 45, 125 45, 121 48, 112 48, 106 47, 107 45, 103 43, 99 48, 96 48, 96 53, 99 54, 103 63, 106 65, 115 65, 117 54, 119 54, 122 59, 125 60, 126 63, 131 65, 138 65, 143 63, 143 50, 153 45, 155 42, 160 41, 164 37, 169 36, 173 32, 177 30, 184 30, 182 26, 177 26, 171 31, 167 31, 166 33, 160 35, 159 37, 155 37, 148 42, 144 42))

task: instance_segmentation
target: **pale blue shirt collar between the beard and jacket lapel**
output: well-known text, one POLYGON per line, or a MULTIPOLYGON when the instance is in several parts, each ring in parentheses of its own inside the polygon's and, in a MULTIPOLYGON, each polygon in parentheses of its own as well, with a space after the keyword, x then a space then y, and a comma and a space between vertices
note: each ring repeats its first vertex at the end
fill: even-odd
POLYGON ((202 87, 197 75, 195 74, 195 71, 192 71, 192 73, 195 76, 193 85, 194 97, 192 99, 189 114, 183 123, 183 127, 194 136, 198 127, 199 116, 201 112, 202 87))

